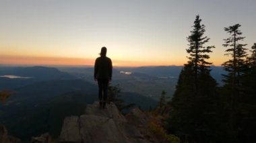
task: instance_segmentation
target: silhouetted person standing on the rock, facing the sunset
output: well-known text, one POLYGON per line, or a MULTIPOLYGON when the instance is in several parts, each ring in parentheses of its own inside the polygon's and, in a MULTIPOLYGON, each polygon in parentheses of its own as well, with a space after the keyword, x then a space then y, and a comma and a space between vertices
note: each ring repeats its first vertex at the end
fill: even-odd
POLYGON ((112 80, 112 61, 106 56, 106 47, 100 50, 100 57, 94 64, 94 81, 98 81, 99 107, 105 108, 108 97, 108 83, 112 80))

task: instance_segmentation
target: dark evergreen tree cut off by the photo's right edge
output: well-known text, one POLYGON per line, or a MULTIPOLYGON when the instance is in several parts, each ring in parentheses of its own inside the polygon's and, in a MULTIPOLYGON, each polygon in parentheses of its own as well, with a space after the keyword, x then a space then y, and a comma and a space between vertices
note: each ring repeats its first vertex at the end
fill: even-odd
POLYGON ((234 139, 237 142, 255 142, 256 128, 256 43, 251 47, 251 54, 247 57, 245 73, 241 76, 240 98, 236 104, 236 131, 234 139))

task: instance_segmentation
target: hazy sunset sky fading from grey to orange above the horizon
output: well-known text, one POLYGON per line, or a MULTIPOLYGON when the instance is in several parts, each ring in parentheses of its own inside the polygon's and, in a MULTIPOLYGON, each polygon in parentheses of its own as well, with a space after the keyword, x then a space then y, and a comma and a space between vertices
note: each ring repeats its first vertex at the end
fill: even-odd
POLYGON ((0 0, 0 64, 93 65, 106 46, 114 66, 183 65, 195 15, 224 56, 225 27, 256 42, 255 0, 0 0))

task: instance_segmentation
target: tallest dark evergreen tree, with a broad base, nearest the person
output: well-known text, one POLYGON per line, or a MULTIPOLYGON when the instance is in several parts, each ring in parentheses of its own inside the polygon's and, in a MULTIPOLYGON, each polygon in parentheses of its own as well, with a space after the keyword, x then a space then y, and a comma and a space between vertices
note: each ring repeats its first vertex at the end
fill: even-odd
POLYGON ((216 81, 210 75, 208 53, 214 46, 204 46, 210 38, 204 36, 205 26, 196 16, 189 42, 189 61, 181 70, 172 101, 168 131, 183 140, 211 142, 215 124, 216 81))

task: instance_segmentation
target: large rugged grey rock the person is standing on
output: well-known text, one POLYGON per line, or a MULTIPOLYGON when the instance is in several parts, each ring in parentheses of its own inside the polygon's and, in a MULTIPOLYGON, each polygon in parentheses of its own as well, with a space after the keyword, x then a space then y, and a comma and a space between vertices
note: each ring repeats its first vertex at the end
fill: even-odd
MULTIPOLYGON (((139 113, 136 111, 136 115, 139 113)), ((143 113, 141 112, 141 115, 143 113)), ((146 117, 145 117, 146 118, 146 117)), ((146 120, 146 119, 145 119, 146 120)), ((146 121, 143 121, 146 122, 146 121)), ((114 103, 88 105, 84 115, 65 117, 59 142, 150 142, 120 113, 114 103)))

